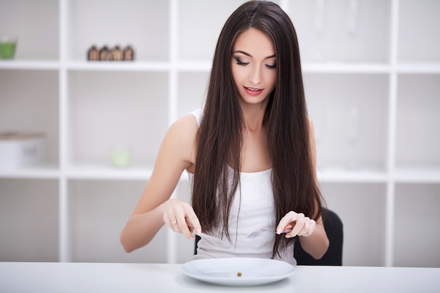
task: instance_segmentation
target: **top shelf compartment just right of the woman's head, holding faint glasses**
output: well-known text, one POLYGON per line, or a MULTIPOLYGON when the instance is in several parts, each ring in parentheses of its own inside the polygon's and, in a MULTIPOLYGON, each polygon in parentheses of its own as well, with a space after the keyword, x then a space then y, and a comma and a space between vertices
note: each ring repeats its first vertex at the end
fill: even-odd
POLYGON ((303 61, 389 63, 390 1, 294 0, 287 12, 303 61))

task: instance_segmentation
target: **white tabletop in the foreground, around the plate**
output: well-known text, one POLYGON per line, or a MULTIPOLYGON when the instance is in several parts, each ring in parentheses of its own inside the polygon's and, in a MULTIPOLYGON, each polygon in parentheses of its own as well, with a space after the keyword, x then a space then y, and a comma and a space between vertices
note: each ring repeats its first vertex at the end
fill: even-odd
POLYGON ((0 262, 0 292, 440 292, 440 268, 297 266, 285 280, 260 287, 222 287, 194 280, 181 264, 0 262))

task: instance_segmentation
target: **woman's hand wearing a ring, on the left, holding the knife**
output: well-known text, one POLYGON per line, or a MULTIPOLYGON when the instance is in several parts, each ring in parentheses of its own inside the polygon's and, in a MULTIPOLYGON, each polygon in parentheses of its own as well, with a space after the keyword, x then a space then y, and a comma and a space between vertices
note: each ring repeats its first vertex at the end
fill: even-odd
POLYGON ((164 202, 162 208, 164 223, 174 232, 183 233, 190 240, 195 239, 193 231, 202 233, 199 219, 188 202, 172 198, 164 202))

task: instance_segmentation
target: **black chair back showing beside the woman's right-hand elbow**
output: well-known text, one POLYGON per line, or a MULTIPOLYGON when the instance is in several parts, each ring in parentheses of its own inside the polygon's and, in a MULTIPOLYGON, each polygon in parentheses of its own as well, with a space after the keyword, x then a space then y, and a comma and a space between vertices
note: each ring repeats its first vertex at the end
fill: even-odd
POLYGON ((339 216, 329 209, 323 209, 323 223, 330 245, 321 259, 313 257, 304 251, 301 243, 295 240, 294 256, 297 264, 306 266, 342 266, 342 246, 344 244, 344 229, 339 216))

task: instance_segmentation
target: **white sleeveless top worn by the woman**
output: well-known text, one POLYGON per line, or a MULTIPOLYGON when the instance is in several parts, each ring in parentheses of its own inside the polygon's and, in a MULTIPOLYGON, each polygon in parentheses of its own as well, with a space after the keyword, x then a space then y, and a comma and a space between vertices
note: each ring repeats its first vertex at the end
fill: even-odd
MULTIPOLYGON (((198 109, 190 113, 200 125, 202 110, 198 109)), ((229 168, 232 172, 232 168, 229 168)), ((231 173, 232 174, 232 173, 231 173)), ((240 172, 240 183, 235 191, 231 213, 229 215, 229 235, 221 239, 221 231, 216 230, 211 235, 202 233, 198 242, 197 254, 194 259, 208 259, 221 257, 254 257, 271 259, 274 233, 262 233, 253 240, 247 236, 254 230, 263 228, 275 231, 278 224, 275 219, 273 193, 271 184, 272 169, 258 172, 240 172)), ((193 174, 188 172, 189 181, 193 183, 193 174)), ((293 240, 285 251, 280 251, 274 259, 279 259, 296 265, 293 256, 293 240)))

